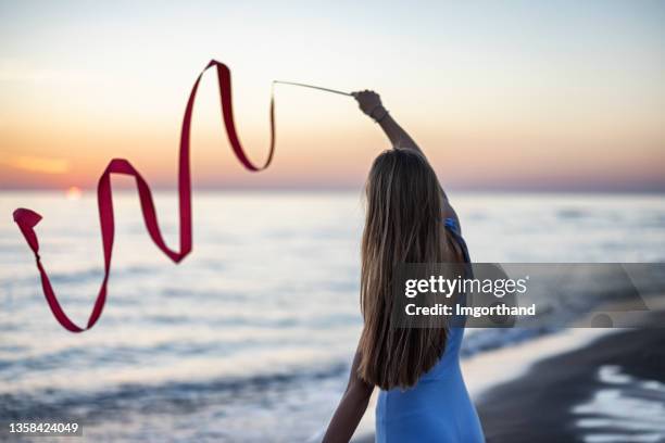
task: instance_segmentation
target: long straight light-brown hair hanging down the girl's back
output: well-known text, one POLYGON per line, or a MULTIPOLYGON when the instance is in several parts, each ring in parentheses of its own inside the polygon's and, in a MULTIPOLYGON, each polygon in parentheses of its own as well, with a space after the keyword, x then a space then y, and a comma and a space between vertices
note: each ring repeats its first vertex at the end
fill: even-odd
POLYGON ((456 262, 442 220, 442 194, 427 160, 394 149, 372 165, 362 239, 361 309, 364 328, 357 375, 381 389, 414 385, 446 349, 443 328, 391 324, 392 279, 403 263, 456 262))

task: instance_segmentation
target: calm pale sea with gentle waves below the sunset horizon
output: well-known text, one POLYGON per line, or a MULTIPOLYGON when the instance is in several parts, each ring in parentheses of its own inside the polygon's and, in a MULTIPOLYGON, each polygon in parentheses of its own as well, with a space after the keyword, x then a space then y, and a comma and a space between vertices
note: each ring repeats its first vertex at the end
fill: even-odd
MULTIPOLYGON (((449 197, 476 262, 665 262, 664 195, 449 197)), ((362 326, 361 192, 193 198, 193 251, 175 265, 147 235, 136 193, 115 192, 106 306, 91 330, 71 333, 49 311, 12 212, 43 216, 42 263, 64 311, 85 325, 103 269, 95 193, 0 193, 0 421, 77 420, 99 442, 321 434, 362 326)), ((155 202, 175 248, 177 198, 163 191, 155 202)), ((463 357, 536 339, 474 330, 463 357)))

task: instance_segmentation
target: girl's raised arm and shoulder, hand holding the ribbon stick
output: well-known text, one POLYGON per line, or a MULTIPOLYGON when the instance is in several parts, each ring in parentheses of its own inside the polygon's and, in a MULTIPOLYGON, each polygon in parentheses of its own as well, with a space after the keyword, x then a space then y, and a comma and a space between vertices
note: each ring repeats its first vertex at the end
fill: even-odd
MULTIPOLYGON (((416 144, 416 142, 411 138, 409 132, 406 132, 396 121, 392 118, 390 113, 384 107, 381 103, 381 97, 374 91, 360 91, 353 92, 353 97, 357 101, 357 104, 363 113, 372 117, 376 123, 379 124, 381 129, 390 142, 392 143, 393 149, 412 149, 417 151, 423 155, 426 160, 427 156, 423 152, 423 150, 416 144)), ((454 218, 457 221, 457 226, 460 226, 460 220, 457 219, 457 214, 455 210, 450 205, 448 201, 448 195, 446 195, 446 191, 443 191, 443 187, 439 182, 439 189, 441 189, 441 195, 443 198, 443 216, 454 218)))

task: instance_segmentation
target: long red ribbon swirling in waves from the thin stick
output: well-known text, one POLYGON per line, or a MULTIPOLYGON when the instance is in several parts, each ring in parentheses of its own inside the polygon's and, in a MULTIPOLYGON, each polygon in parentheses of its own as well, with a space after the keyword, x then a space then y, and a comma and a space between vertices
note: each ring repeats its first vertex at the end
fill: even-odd
POLYGON ((180 131, 180 157, 178 166, 178 197, 179 197, 179 214, 180 214, 180 248, 178 251, 174 251, 166 245, 160 231, 160 226, 156 219, 156 213, 154 211, 154 203, 152 201, 152 193, 148 182, 141 177, 139 172, 125 159, 113 159, 104 173, 99 179, 97 185, 97 205, 99 207, 99 220, 101 225, 101 235, 104 249, 104 279, 102 280, 95 307, 88 319, 88 325, 85 328, 80 328, 74 324, 70 317, 64 313, 58 298, 53 292, 49 276, 41 264, 39 257, 39 240, 37 233, 35 233, 35 226, 41 219, 41 216, 34 211, 26 208, 18 208, 14 211, 14 221, 18 225, 23 237, 27 241, 28 245, 35 253, 37 261, 37 269, 41 276, 41 287, 43 289, 43 295, 46 296, 51 312, 55 316, 55 319, 67 330, 72 332, 83 332, 87 329, 92 328, 99 317, 101 316, 104 303, 106 301, 106 284, 109 282, 109 274, 111 273, 111 256, 113 254, 113 238, 115 236, 115 221, 113 217, 113 193, 111 188, 111 174, 123 174, 133 176, 136 180, 138 188, 139 198, 141 201, 141 212, 143 214, 143 220, 150 238, 156 246, 166 254, 175 263, 179 263, 191 252, 192 236, 191 236, 191 178, 189 168, 189 140, 191 129, 191 114, 197 97, 197 90, 199 89, 199 83, 203 74, 211 67, 215 67, 217 71, 217 81, 219 85, 219 100, 222 103, 222 115, 224 118, 224 126, 226 127, 226 135, 228 141, 236 153, 236 157, 242 163, 242 165, 252 172, 259 172, 265 169, 273 160, 273 153, 275 151, 275 99, 271 97, 271 149, 268 152, 267 160, 262 166, 254 165, 244 153, 242 144, 238 138, 236 131, 236 125, 234 124, 234 109, 231 105, 231 83, 230 83, 230 71, 224 63, 219 63, 212 60, 208 66, 199 74, 197 81, 191 88, 189 93, 189 100, 187 100, 187 107, 185 109, 185 116, 183 118, 183 128, 180 131))

